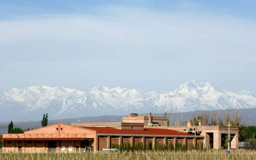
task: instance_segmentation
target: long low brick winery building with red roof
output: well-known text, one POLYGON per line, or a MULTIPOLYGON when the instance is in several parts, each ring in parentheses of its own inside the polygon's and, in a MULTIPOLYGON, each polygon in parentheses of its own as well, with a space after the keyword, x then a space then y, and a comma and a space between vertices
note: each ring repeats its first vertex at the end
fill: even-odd
MULTIPOLYGON (((166 117, 138 116, 130 113, 123 117, 122 123, 57 123, 41 127, 23 134, 3 134, 3 152, 84 152, 111 149, 113 145, 142 144, 143 147, 155 144, 193 145, 203 143, 221 149, 220 128, 212 127, 206 133, 203 127, 168 127, 166 117), (197 129, 198 128, 198 129, 197 129), (194 130, 194 131, 192 131, 194 130), (220 135, 218 135, 220 134, 220 135), (216 138, 217 137, 217 138, 216 138), (215 140, 216 139, 216 140, 215 140), (215 141, 214 141, 215 140, 215 141), (218 141, 218 142, 217 142, 218 141)), ((225 128, 227 130, 227 127, 225 128)), ((233 129, 231 148, 238 146, 238 129, 233 129)))

